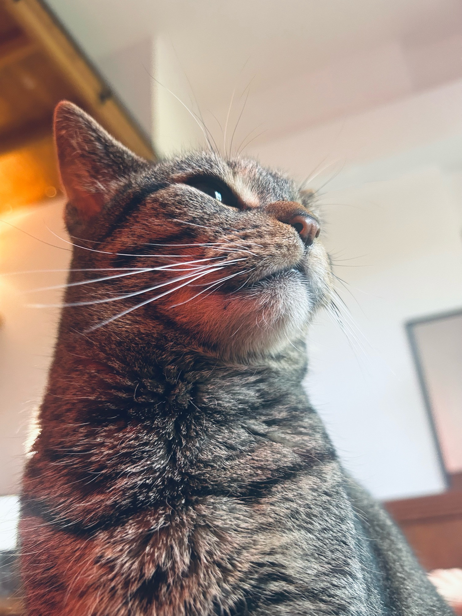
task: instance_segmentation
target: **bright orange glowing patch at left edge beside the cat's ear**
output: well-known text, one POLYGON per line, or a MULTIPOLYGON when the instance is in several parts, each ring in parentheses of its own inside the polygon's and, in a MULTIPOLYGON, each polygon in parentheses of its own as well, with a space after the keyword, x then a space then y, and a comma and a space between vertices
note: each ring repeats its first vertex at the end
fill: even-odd
POLYGON ((55 197, 58 192, 51 135, 0 155, 0 212, 55 197))

